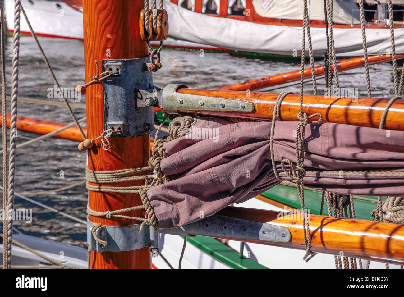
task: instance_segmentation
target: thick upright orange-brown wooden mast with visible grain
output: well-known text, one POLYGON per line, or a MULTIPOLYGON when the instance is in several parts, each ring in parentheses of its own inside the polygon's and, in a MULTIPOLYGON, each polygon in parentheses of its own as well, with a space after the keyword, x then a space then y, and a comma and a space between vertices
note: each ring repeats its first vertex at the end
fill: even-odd
MULTIPOLYGON (((133 59, 147 56, 146 42, 141 40, 139 32, 139 15, 143 4, 141 0, 84 0, 86 82, 93 80, 93 75, 96 74, 95 60, 101 65, 102 59, 133 59)), ((104 130, 101 84, 88 86, 86 106, 88 137, 95 138, 104 130)), ((112 137, 110 140, 111 150, 105 151, 94 146, 93 150, 88 151, 89 169, 113 171, 142 167, 147 164, 150 152, 148 134, 140 137, 112 137)), ((141 182, 128 181, 114 184, 114 186, 133 185, 141 185, 141 182)), ((88 191, 88 203, 90 209, 99 212, 142 205, 137 194, 92 191, 88 191)), ((141 210, 122 213, 122 215, 144 217, 141 210)), ((93 216, 90 216, 90 221, 101 225, 139 223, 117 217, 107 219, 93 216)), ((91 269, 150 269, 150 248, 126 252, 91 252, 90 267, 91 269)))

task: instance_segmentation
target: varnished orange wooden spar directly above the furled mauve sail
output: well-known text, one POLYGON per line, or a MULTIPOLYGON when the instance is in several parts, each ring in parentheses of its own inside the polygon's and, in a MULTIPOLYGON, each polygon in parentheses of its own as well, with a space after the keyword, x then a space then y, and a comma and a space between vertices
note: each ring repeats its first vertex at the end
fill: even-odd
MULTIPOLYGON (((278 93, 246 93, 241 91, 201 90, 191 88, 180 88, 177 93, 236 99, 251 102, 255 106, 254 111, 244 113, 202 110, 178 110, 178 112, 258 120, 272 120, 275 101, 279 95, 278 93)), ((327 98, 324 95, 303 95, 303 112, 307 112, 309 115, 319 113, 323 116, 323 122, 379 128, 380 119, 388 101, 389 99, 383 98, 362 97, 357 99, 336 99, 332 96, 327 98)), ((299 102, 299 94, 287 95, 283 99, 280 107, 280 120, 297 121, 299 102)), ((404 130, 403 118, 404 100, 398 99, 391 105, 387 113, 384 127, 391 130, 404 130)), ((318 120, 318 118, 314 117, 311 120, 318 120)))

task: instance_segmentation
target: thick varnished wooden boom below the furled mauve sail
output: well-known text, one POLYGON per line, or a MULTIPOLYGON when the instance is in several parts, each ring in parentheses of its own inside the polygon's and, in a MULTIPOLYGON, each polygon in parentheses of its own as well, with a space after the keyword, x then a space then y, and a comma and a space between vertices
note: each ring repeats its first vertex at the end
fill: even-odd
MULTIPOLYGON (((229 206, 218 214, 286 227, 292 235, 290 242, 256 243, 305 249, 299 213, 229 206)), ((340 255, 343 251, 345 257, 404 264, 404 224, 310 215, 310 232, 311 250, 314 252, 340 255)))

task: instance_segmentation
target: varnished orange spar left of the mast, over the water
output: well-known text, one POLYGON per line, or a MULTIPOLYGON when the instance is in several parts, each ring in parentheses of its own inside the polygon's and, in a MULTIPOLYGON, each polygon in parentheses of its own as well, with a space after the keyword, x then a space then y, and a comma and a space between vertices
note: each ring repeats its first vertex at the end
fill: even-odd
MULTIPOLYGON (((2 125, 2 123, 3 118, 0 115, 0 125, 2 125)), ((26 131, 43 135, 53 132, 64 126, 66 126, 66 124, 17 116, 17 131, 26 131)), ((7 115, 7 127, 10 128, 10 115, 7 115)), ((82 129, 84 134, 87 134, 87 129, 82 129)), ((62 131, 54 135, 53 137, 69 139, 73 141, 83 141, 83 137, 77 127, 67 128, 65 131, 62 131)))

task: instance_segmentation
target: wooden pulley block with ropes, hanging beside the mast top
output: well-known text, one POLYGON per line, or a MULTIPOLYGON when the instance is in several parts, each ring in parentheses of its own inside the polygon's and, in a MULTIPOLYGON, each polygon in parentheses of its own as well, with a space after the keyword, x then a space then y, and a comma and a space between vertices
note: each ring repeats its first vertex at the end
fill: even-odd
POLYGON ((157 32, 153 30, 153 10, 149 9, 149 32, 145 30, 145 10, 140 12, 140 36, 146 41, 161 41, 168 38, 168 15, 165 9, 157 9, 157 32))

